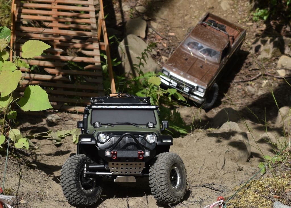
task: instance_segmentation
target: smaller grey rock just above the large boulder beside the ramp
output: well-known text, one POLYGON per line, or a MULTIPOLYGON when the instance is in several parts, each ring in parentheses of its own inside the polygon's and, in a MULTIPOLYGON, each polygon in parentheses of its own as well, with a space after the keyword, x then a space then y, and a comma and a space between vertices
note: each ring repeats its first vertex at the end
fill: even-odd
POLYGON ((125 24, 126 34, 134 34, 141 38, 145 38, 146 21, 141 17, 130 19, 125 24))

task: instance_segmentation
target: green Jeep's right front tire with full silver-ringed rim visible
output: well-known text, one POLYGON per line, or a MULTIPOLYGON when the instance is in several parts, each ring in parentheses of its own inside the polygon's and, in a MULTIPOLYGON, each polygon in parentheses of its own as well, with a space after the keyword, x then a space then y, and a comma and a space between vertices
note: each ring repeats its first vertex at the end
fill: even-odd
POLYGON ((158 154, 149 172, 150 190, 158 202, 166 205, 181 202, 186 193, 187 174, 178 154, 172 152, 158 154), (175 174, 177 180, 173 178, 175 174))

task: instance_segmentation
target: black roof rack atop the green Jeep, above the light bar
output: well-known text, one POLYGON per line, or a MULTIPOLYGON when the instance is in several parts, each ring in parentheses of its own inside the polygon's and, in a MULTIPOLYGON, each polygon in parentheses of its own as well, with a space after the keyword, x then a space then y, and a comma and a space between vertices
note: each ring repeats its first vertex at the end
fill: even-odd
POLYGON ((91 105, 150 105, 150 97, 139 97, 126 93, 114 93, 104 97, 92 97, 91 105))

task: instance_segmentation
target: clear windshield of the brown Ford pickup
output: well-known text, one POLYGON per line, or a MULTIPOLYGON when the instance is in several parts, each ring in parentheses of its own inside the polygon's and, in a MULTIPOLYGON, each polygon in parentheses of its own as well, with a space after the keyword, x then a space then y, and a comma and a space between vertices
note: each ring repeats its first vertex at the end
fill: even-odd
POLYGON ((187 38, 183 43, 184 48, 191 55, 195 54, 197 56, 203 57, 209 61, 219 63, 220 52, 214 50, 208 46, 199 43, 193 38, 187 38))

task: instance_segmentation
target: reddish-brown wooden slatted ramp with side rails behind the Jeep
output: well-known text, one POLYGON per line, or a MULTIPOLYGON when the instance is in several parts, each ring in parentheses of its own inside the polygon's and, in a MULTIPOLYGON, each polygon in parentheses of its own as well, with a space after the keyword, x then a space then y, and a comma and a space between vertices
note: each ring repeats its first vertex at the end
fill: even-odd
MULTIPOLYGON (((103 8, 102 0, 100 4, 103 8)), ((54 109, 73 112, 83 112, 92 96, 103 96, 99 46, 106 54, 109 47, 103 9, 102 13, 95 12, 99 2, 15 0, 13 5, 13 47, 17 55, 21 56, 19 49, 27 40, 41 40, 51 46, 29 62, 29 70, 20 68, 24 77, 18 88, 20 93, 29 84, 40 85, 49 94, 54 109), (96 18, 100 15, 98 23, 102 25, 98 25, 97 31, 96 18), (99 43, 102 31, 104 43, 99 43)))

